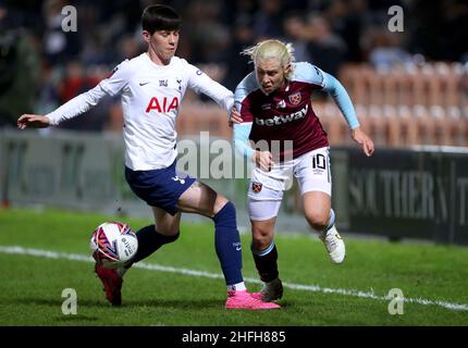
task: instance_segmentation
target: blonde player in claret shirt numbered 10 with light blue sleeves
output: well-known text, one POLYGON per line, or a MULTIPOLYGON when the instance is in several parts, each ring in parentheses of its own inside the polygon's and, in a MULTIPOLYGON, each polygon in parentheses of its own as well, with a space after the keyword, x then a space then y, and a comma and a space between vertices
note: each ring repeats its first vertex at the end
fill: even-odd
POLYGON ((266 40, 243 51, 251 58, 255 72, 235 90, 233 117, 243 120, 234 124, 236 151, 256 163, 248 188, 248 211, 251 252, 264 283, 254 296, 264 301, 283 295, 273 234, 283 192, 291 186, 293 174, 299 184, 305 217, 320 236, 331 261, 342 263, 345 258, 345 245, 331 208, 329 141, 312 110, 313 91, 331 94, 352 129, 352 138, 367 156, 374 150, 341 83, 310 63, 295 63, 293 50, 291 44, 266 40))

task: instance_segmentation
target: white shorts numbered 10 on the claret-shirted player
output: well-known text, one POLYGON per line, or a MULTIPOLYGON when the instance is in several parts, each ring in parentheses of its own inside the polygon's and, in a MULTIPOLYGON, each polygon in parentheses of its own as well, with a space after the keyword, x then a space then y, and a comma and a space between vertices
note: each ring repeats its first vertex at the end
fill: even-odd
POLYGON ((270 172, 256 167, 248 187, 250 220, 263 221, 278 215, 283 194, 293 185, 293 174, 299 184, 300 195, 322 191, 331 196, 330 148, 323 147, 292 161, 278 163, 270 172))

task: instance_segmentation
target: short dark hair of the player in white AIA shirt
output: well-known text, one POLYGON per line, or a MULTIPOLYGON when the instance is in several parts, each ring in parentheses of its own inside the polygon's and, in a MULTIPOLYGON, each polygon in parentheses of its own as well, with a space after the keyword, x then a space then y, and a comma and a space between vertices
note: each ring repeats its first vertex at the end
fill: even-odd
POLYGON ((178 30, 181 17, 169 5, 151 4, 143 11, 141 27, 151 35, 157 30, 178 30))

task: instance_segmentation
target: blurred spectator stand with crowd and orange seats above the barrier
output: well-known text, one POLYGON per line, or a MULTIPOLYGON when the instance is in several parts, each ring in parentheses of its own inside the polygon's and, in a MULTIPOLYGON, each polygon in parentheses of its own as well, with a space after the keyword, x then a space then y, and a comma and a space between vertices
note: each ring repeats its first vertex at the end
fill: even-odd
MULTIPOLYGON (((93 87, 125 58, 141 52, 145 45, 139 17, 149 3, 0 1, 3 94, 11 89, 7 86, 11 87, 12 80, 23 82, 15 90, 15 98, 2 96, 1 123, 14 124, 17 114, 25 110, 40 113, 53 110, 93 87), (76 33, 62 32, 61 11, 66 4, 77 10, 76 33)), ((258 40, 275 37, 295 45, 297 61, 311 61, 338 76, 349 90, 359 116, 366 119, 366 126, 373 125, 371 120, 367 122, 368 116, 377 119, 378 128, 380 119, 408 114, 421 120, 466 119, 464 64, 468 53, 460 35, 467 32, 468 10, 464 1, 180 0, 167 3, 184 21, 177 54, 205 67, 227 88, 234 89, 251 70, 239 51, 258 40), (387 12, 392 5, 399 5, 404 11, 403 32, 389 30, 392 15, 387 12)), ((333 123, 338 123, 341 117, 334 117, 333 107, 324 98, 317 99, 317 113, 325 119, 333 116, 336 120, 333 123)), ((61 128, 120 132, 120 115, 115 101, 109 100, 108 104, 89 112, 85 120, 72 121, 61 128)), ((182 119, 188 117, 181 117, 182 134, 197 133, 197 128, 185 125, 190 122, 182 119)), ((204 129, 205 124, 199 124, 204 129)), ((227 136, 224 123, 220 122, 218 127, 211 130, 227 136)), ((379 146, 465 146, 467 141, 460 134, 452 135, 445 129, 426 129, 423 133, 428 134, 421 134, 412 133, 411 128, 404 141, 393 132, 372 132, 379 146)), ((332 129, 330 133, 334 145, 348 141, 332 129)))

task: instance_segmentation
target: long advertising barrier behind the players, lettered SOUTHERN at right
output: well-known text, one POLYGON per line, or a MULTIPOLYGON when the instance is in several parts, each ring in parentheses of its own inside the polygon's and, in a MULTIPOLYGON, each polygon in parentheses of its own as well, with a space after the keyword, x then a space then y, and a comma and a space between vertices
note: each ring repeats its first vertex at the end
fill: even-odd
MULTIPOLYGON (((231 175, 234 178, 204 176, 211 174, 207 166, 212 166, 221 148, 212 145, 222 139, 208 138, 209 144, 201 137, 184 139, 177 145, 181 159, 189 157, 183 142, 188 140, 197 151, 196 170, 189 174, 227 196, 237 207, 239 227, 248 228, 247 165, 232 154, 234 164, 229 170, 242 165, 231 175), (199 156, 202 148, 210 152, 207 163, 199 156)), ((468 245, 468 149, 378 148, 367 158, 356 146, 332 147, 331 163, 340 229, 468 245)), ((0 130, 3 206, 40 204, 152 219, 150 209, 130 190, 123 173, 123 139, 115 134, 0 130)), ((193 214, 184 219, 199 220, 193 214)), ((285 192, 278 231, 310 232, 301 215, 297 183, 285 192)))

